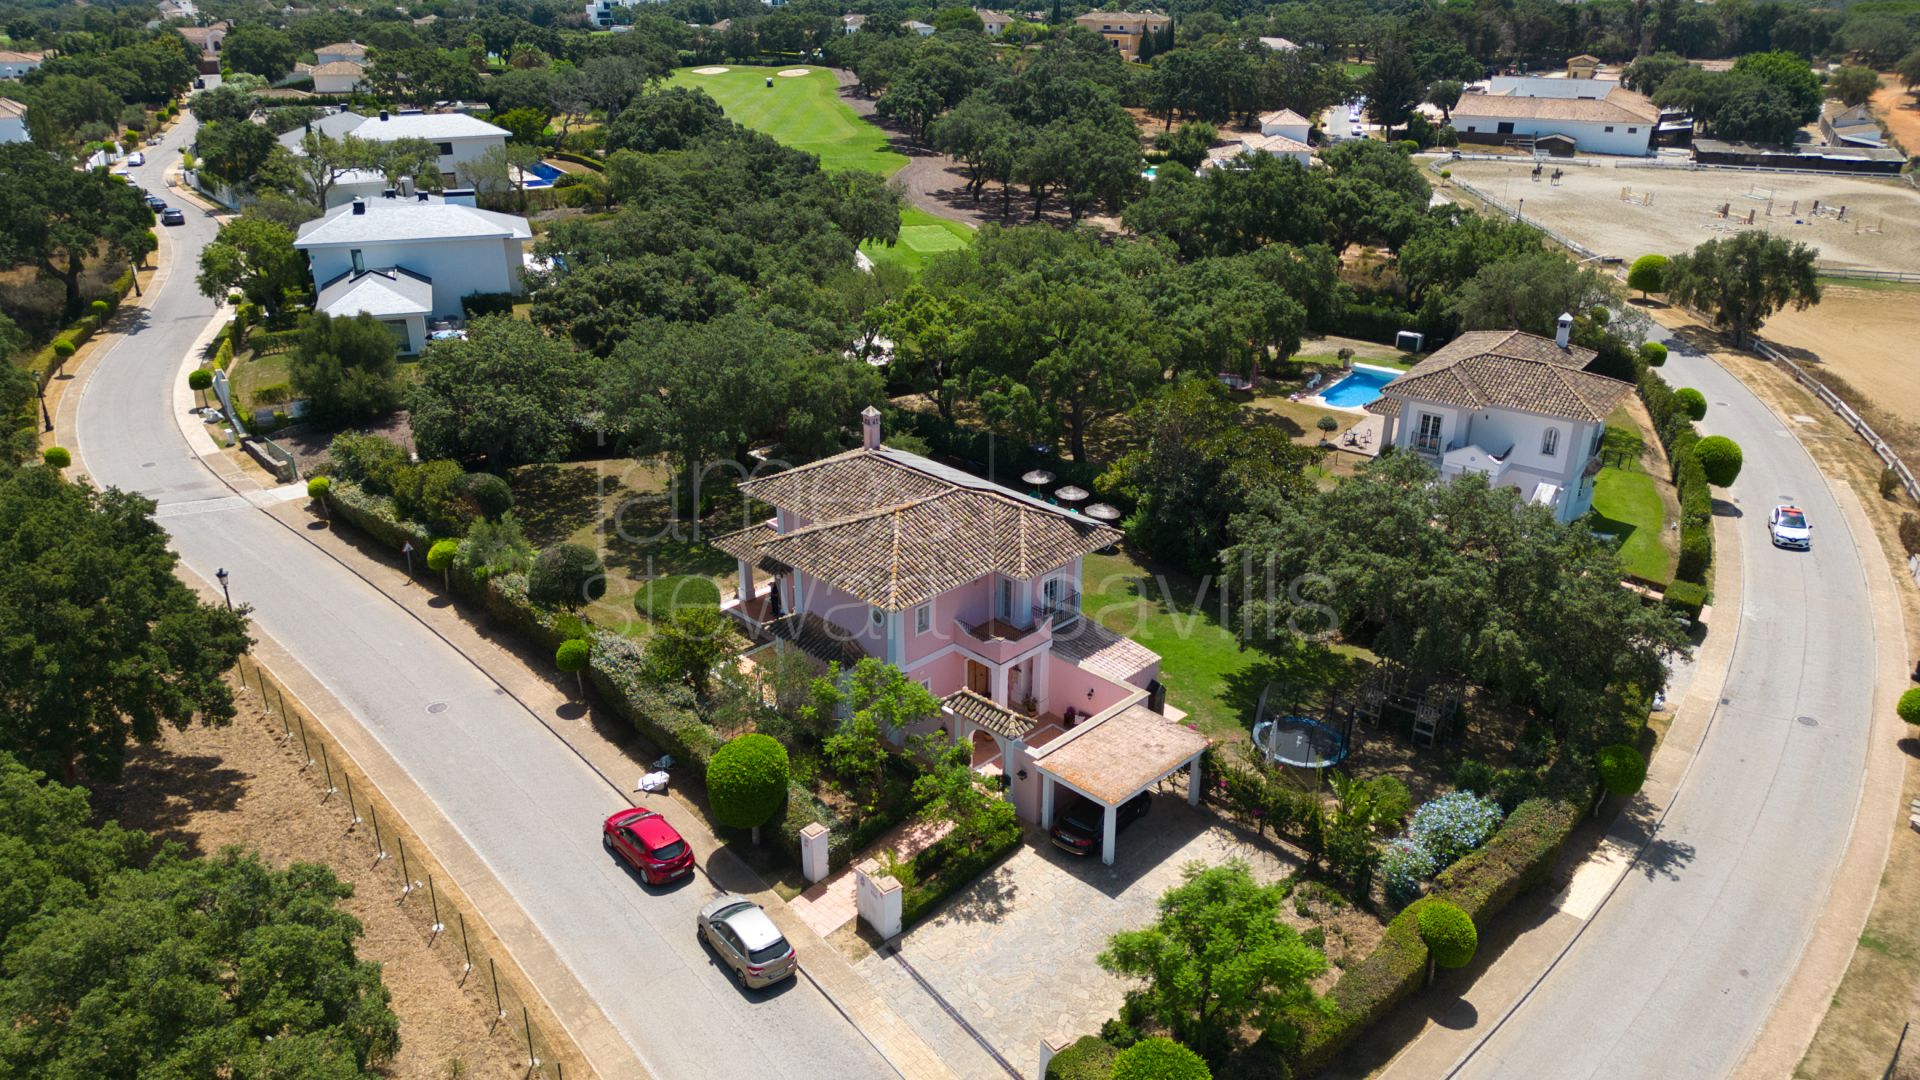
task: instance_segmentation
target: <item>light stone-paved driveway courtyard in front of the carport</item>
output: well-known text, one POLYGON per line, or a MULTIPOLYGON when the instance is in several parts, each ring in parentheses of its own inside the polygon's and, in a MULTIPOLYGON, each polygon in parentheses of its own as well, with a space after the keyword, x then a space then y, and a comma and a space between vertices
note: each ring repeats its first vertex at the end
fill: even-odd
POLYGON ((1146 821, 1119 834, 1112 867, 1029 828, 1012 859, 910 930, 899 957, 870 955, 858 970, 956 1074, 1006 1080, 1010 1067, 1037 1078, 1043 1040, 1096 1032, 1119 1011, 1127 984, 1094 963, 1106 940, 1152 922, 1183 865, 1227 859, 1244 859, 1263 882, 1294 871, 1179 794, 1156 796, 1146 821))

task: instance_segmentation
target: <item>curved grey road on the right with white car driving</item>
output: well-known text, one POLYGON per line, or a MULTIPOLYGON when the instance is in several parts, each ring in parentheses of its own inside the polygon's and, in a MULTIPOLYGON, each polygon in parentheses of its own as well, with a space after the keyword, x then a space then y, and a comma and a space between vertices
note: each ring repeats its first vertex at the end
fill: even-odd
POLYGON ((1730 1076, 1812 934, 1853 826, 1874 688, 1860 555, 1774 413, 1709 357, 1667 344, 1668 382, 1707 396, 1705 432, 1745 452, 1722 492, 1745 565, 1722 703, 1647 853, 1457 1076, 1730 1076), (1784 502, 1807 509, 1812 552, 1768 542, 1766 513, 1784 502))

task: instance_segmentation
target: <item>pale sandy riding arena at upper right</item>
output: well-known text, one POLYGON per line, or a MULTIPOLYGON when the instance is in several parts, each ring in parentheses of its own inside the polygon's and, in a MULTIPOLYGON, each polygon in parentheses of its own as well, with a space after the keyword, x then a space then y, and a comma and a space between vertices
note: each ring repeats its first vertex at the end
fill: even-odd
POLYGON ((1920 271, 1920 190, 1891 177, 1542 165, 1538 179, 1532 160, 1448 167, 1453 181, 1507 206, 1524 200, 1526 217, 1603 256, 1676 254, 1768 229, 1818 248, 1822 265, 1920 271))

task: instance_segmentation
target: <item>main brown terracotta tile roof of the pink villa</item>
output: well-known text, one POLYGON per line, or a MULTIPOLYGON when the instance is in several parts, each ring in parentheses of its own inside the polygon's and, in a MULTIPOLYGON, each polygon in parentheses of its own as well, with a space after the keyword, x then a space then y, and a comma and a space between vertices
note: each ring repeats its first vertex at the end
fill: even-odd
MULTIPOLYGON (((904 611, 987 573, 1029 578, 1119 540, 1077 513, 899 450, 852 450, 741 484, 808 525, 753 548, 904 611)), ((739 532, 722 536, 739 548, 739 532)), ((720 546, 716 540, 716 546, 720 546)), ((722 548, 733 557, 743 557, 722 548)))

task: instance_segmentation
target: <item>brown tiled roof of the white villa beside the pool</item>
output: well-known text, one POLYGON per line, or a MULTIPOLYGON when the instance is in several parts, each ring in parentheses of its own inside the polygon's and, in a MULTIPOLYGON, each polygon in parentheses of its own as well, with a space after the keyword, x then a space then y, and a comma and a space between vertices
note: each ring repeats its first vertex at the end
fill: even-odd
POLYGON ((1475 331, 1453 338, 1388 382, 1380 396, 1461 409, 1496 405, 1605 421, 1632 384, 1584 371, 1594 356, 1594 350, 1561 350, 1548 338, 1521 331, 1475 331))

